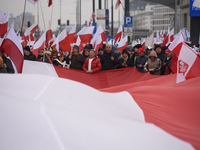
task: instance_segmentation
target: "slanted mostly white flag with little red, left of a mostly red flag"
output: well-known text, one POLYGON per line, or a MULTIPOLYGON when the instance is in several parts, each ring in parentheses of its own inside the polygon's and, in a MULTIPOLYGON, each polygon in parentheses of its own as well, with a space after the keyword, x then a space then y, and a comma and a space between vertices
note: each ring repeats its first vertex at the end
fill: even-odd
POLYGON ((67 36, 67 31, 64 29, 56 38, 54 41, 52 47, 55 48, 59 52, 59 46, 63 44, 65 38, 67 36))

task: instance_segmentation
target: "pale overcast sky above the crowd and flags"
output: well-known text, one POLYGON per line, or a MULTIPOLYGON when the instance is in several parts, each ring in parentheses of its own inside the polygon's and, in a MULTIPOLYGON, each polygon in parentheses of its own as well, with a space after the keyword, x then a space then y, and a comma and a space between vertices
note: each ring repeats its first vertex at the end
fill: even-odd
MULTIPOLYGON (((113 5, 115 8, 117 0, 113 0, 113 5)), ((122 1, 123 2, 123 1, 122 1)), ((25 0, 0 0, 0 7, 4 13, 13 13, 14 17, 21 14, 24 10, 25 0)), ((44 23, 41 13, 41 7, 44 14, 45 25, 48 27, 48 21, 51 20, 52 6, 47 6, 47 0, 39 1, 39 26, 44 30, 44 23)), ((82 14, 81 23, 85 23, 90 19, 92 14, 92 0, 81 0, 82 14)), ((95 0, 95 9, 98 9, 98 0, 95 0)), ((104 8, 104 0, 102 0, 102 8, 104 8)), ((111 0, 108 0, 108 9, 111 8, 111 0)), ((35 21, 37 22, 37 4, 34 6, 30 2, 26 2, 26 12, 30 12, 35 15, 35 21)), ((110 10, 111 12, 111 10, 110 10)), ((123 18, 123 8, 120 6, 120 20, 123 18)), ((110 14, 111 16, 111 14, 110 14)), ((60 0, 53 0, 53 16, 52 16, 52 29, 55 30, 58 27, 58 19, 60 18, 60 0)), ((76 23, 76 0, 61 0, 61 22, 65 23, 70 20, 70 24, 76 23)), ((111 20, 111 18, 110 18, 111 20)), ((118 21, 118 10, 114 10, 114 21, 118 21)))

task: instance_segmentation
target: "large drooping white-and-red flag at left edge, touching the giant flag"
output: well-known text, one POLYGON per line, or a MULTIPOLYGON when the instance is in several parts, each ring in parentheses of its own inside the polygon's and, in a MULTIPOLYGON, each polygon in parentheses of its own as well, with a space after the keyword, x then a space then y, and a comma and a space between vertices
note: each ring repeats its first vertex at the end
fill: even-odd
POLYGON ((24 52, 19 38, 12 27, 8 30, 1 48, 4 53, 10 57, 15 73, 22 73, 24 52))

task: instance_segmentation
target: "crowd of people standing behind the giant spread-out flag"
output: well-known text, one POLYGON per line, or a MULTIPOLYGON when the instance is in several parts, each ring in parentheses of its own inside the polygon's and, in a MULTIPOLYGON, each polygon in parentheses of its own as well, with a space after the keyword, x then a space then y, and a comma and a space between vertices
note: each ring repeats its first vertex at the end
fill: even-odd
MULTIPOLYGON (((96 73, 104 70, 135 67, 140 72, 149 72, 153 75, 164 75, 173 73, 171 70, 171 60, 173 53, 167 46, 155 44, 154 47, 142 47, 137 44, 131 45, 122 50, 122 54, 115 45, 104 44, 95 50, 91 44, 84 47, 82 52, 74 45, 71 52, 63 52, 61 47, 59 52, 56 49, 38 50, 36 57, 29 46, 23 47, 24 60, 51 63, 60 67, 83 70, 86 73, 96 73)), ((14 73, 11 61, 0 51, 0 72, 14 73)))

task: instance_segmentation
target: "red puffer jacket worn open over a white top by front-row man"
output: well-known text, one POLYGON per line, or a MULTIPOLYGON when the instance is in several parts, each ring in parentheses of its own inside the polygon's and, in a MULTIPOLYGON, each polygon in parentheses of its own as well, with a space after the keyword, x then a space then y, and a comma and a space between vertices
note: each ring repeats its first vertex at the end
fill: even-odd
MULTIPOLYGON (((83 70, 87 71, 88 70, 88 63, 89 63, 89 58, 87 58, 85 60, 85 63, 83 64, 83 70)), ((93 71, 93 73, 98 72, 101 70, 101 62, 99 58, 94 58, 92 60, 92 64, 91 64, 91 70, 93 71)))

